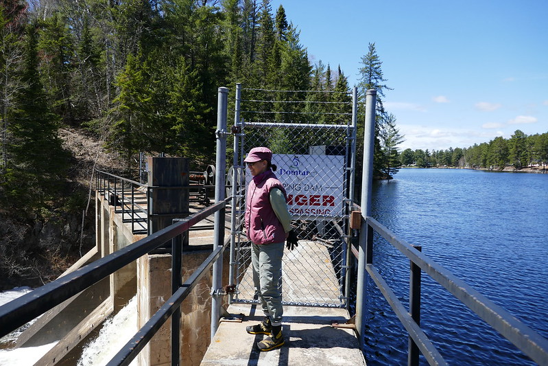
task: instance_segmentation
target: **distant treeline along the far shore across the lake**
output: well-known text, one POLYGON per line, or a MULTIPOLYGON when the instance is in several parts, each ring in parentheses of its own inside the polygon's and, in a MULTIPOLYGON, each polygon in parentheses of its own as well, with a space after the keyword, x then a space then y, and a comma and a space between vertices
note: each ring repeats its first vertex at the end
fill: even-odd
POLYGON ((548 133, 526 135, 516 130, 510 139, 495 137, 489 142, 468 148, 448 150, 412 150, 407 148, 399 155, 401 165, 419 167, 449 166, 460 168, 489 168, 502 170, 507 166, 516 169, 548 163, 548 133))

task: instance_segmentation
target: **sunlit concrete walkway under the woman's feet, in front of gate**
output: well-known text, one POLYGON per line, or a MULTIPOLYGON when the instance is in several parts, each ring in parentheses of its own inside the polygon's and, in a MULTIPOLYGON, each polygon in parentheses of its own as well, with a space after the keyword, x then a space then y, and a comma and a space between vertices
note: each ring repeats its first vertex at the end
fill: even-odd
POLYGON ((256 343, 265 335, 246 332, 247 325, 263 319, 256 305, 232 304, 230 314, 243 314, 243 321, 221 321, 202 366, 213 365, 366 365, 354 330, 333 328, 333 321, 348 319, 345 309, 284 307, 285 345, 259 352, 256 343))

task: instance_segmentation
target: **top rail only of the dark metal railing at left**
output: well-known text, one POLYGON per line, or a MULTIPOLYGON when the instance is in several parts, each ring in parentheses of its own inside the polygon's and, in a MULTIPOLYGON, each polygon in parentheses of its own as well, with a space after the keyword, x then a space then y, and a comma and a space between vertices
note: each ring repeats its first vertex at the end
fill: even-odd
POLYGON ((9 334, 21 325, 43 314, 43 312, 54 308, 85 288, 115 273, 123 266, 152 251, 152 249, 156 249, 172 238, 179 236, 193 225, 204 220, 204 218, 224 209, 224 207, 226 207, 226 201, 220 201, 215 205, 206 207, 196 214, 128 245, 128 247, 119 249, 49 284, 36 288, 36 290, 14 299, 8 304, 0 306, 0 324, 2 324, 0 337, 9 334))

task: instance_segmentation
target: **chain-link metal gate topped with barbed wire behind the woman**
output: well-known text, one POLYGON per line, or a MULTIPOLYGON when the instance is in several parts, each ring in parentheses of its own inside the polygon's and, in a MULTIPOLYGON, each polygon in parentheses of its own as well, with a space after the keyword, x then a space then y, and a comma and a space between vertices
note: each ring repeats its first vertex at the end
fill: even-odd
MULTIPOLYGON (((337 215, 323 215, 323 214, 306 214, 292 220, 294 227, 298 226, 300 229, 300 241, 299 248, 304 249, 294 253, 294 251, 285 251, 283 258, 283 281, 279 285, 282 291, 283 304, 287 306, 314 306, 314 307, 328 307, 328 308, 348 308, 348 293, 350 290, 350 276, 348 275, 348 265, 350 263, 350 229, 349 229, 349 216, 350 209, 354 203, 354 186, 355 186, 355 166, 356 166, 356 133, 357 133, 357 89, 354 88, 352 93, 351 102, 305 102, 321 104, 323 108, 326 106, 332 106, 333 104, 349 104, 348 108, 352 108, 352 113, 320 113, 321 115, 335 116, 340 118, 341 116, 346 120, 346 124, 319 124, 319 123, 302 123, 302 122, 246 122, 242 113, 267 113, 280 116, 286 113, 287 115, 298 115, 298 117, 310 117, 318 113, 311 112, 296 112, 288 111, 291 108, 291 104, 303 103, 302 100, 291 101, 287 100, 244 100, 242 99, 242 91, 250 91, 250 93, 270 93, 280 95, 281 93, 326 93, 325 91, 273 91, 265 89, 242 89, 241 84, 237 84, 236 98, 235 98, 235 124, 232 128, 234 136, 233 146, 233 166, 230 168, 231 172, 228 174, 228 185, 232 190, 232 217, 231 217, 231 245, 230 245, 230 284, 235 284, 235 293, 231 296, 230 301, 233 303, 257 303, 257 296, 252 284, 252 277, 250 277, 251 264, 250 264, 250 242, 246 238, 244 229, 243 214, 245 211, 245 199, 246 199, 246 181, 245 181, 245 164, 243 163, 243 157, 248 150, 254 146, 250 144, 250 135, 253 131, 268 130, 268 131, 319 131, 324 135, 335 136, 339 141, 344 141, 344 166, 342 169, 342 209, 340 214, 337 215), (241 109, 242 102, 264 102, 269 104, 287 103, 283 111, 246 111, 241 109), (326 133, 327 131, 327 133, 326 133), (327 230, 328 236, 316 235, 313 237, 308 236, 302 238, 303 233, 308 233, 307 229, 313 227, 313 221, 315 221, 316 231, 318 227, 325 225, 329 227, 327 230), (297 225, 296 225, 297 224, 297 225), (303 231, 303 229, 305 229, 303 231), (319 249, 318 249, 319 248, 319 249), (319 252, 318 252, 319 250, 319 252), (320 253, 321 252, 321 253, 320 253), (319 257, 315 258, 316 261, 307 260, 310 257, 305 255, 312 255, 316 253, 319 257), (322 260, 322 256, 326 255, 326 260, 322 260), (298 258, 300 257, 300 258, 298 258), (329 261, 327 261, 329 259, 329 261), (326 262, 324 268, 318 267, 318 263, 326 262), (316 270, 319 272, 315 272, 316 270), (292 273, 291 273, 292 271, 292 273), (313 271, 310 273, 309 271, 313 271), (297 272, 297 273, 295 273, 297 272), (333 276, 333 272, 335 276, 333 276), (300 282, 304 277, 313 277, 312 282, 304 283, 300 282), (331 277, 331 283, 329 282, 331 277), (333 283, 333 277, 336 277, 336 284, 333 283), (327 281, 327 282, 324 282, 327 281), (307 288, 312 288, 314 293, 307 291, 307 288), (325 290, 325 293, 322 291, 325 290)), ((314 117, 314 116, 313 116, 314 117)), ((282 134, 283 135, 283 134, 282 134)), ((299 135, 300 136, 300 135, 299 135)), ((264 137, 264 135, 263 135, 264 137)), ((283 137, 282 137, 283 138, 283 137)), ((318 137, 315 137, 318 139, 318 137)), ((286 137, 287 139, 287 137, 286 137)), ((267 138, 264 141, 268 141, 267 138)), ((329 140, 322 140, 327 141, 329 140)), ((253 141, 252 141, 253 142, 253 141)), ((265 146, 268 146, 265 144, 265 146)), ((312 146, 312 144, 310 145, 312 146)), ((302 150, 298 153, 292 151, 291 154, 299 156, 310 155, 310 146, 305 146, 308 149, 307 154, 303 154, 302 150)), ((272 148, 271 148, 272 149, 272 148)), ((274 154, 281 151, 272 149, 274 154)), ((278 149, 279 150, 279 149, 278 149)), ((287 152, 286 152, 287 153, 287 152)), ((328 156, 327 154, 325 156, 328 156)), ((339 155, 340 156, 340 155, 339 155)), ((335 157, 336 158, 336 157, 335 157)), ((273 159, 274 160, 274 159, 273 159)), ((332 160, 332 159, 331 159, 332 160)), ((280 177, 279 174, 277 174, 280 177)), ((281 179, 283 182, 283 179, 281 179)), ((326 197, 326 196, 324 196, 326 197)), ((296 200, 295 200, 296 201, 296 200)), ((296 202, 289 202, 289 208, 291 209, 291 203, 293 206, 296 202)), ((322 231, 325 235, 325 230, 322 231)), ((321 265, 320 265, 321 267, 321 265)))

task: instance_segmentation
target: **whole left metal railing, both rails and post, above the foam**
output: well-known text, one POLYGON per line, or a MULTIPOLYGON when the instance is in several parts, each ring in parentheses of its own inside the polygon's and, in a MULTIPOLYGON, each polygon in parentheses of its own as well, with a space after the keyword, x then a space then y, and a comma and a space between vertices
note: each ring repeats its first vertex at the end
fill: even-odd
MULTIPOLYGON (((189 295, 198 281, 209 272, 222 252, 228 245, 227 242, 214 243, 214 249, 204 262, 194 271, 193 275, 184 283, 181 283, 181 236, 193 225, 211 216, 211 214, 220 212, 224 215, 226 209, 226 200, 219 201, 188 218, 180 219, 173 225, 166 227, 156 233, 147 236, 141 240, 119 249, 104 258, 96 260, 78 270, 64 275, 45 286, 36 288, 30 293, 10 301, 8 304, 0 306, 0 337, 21 327, 25 323, 38 317, 38 315, 51 310, 63 301, 71 298, 80 291, 96 284, 101 279, 115 273, 123 266, 130 264, 141 256, 149 253, 171 240, 172 255, 172 293, 173 295, 165 301, 165 304, 150 318, 143 328, 141 328, 133 338, 124 345, 118 354, 112 358, 108 365, 129 365, 130 362, 139 354, 145 345, 152 339, 152 336, 160 327, 171 317, 171 364, 179 365, 180 354, 180 304, 189 295)), ((222 222, 219 225, 224 225, 222 222)), ((224 240, 222 237, 220 240, 224 240)))

